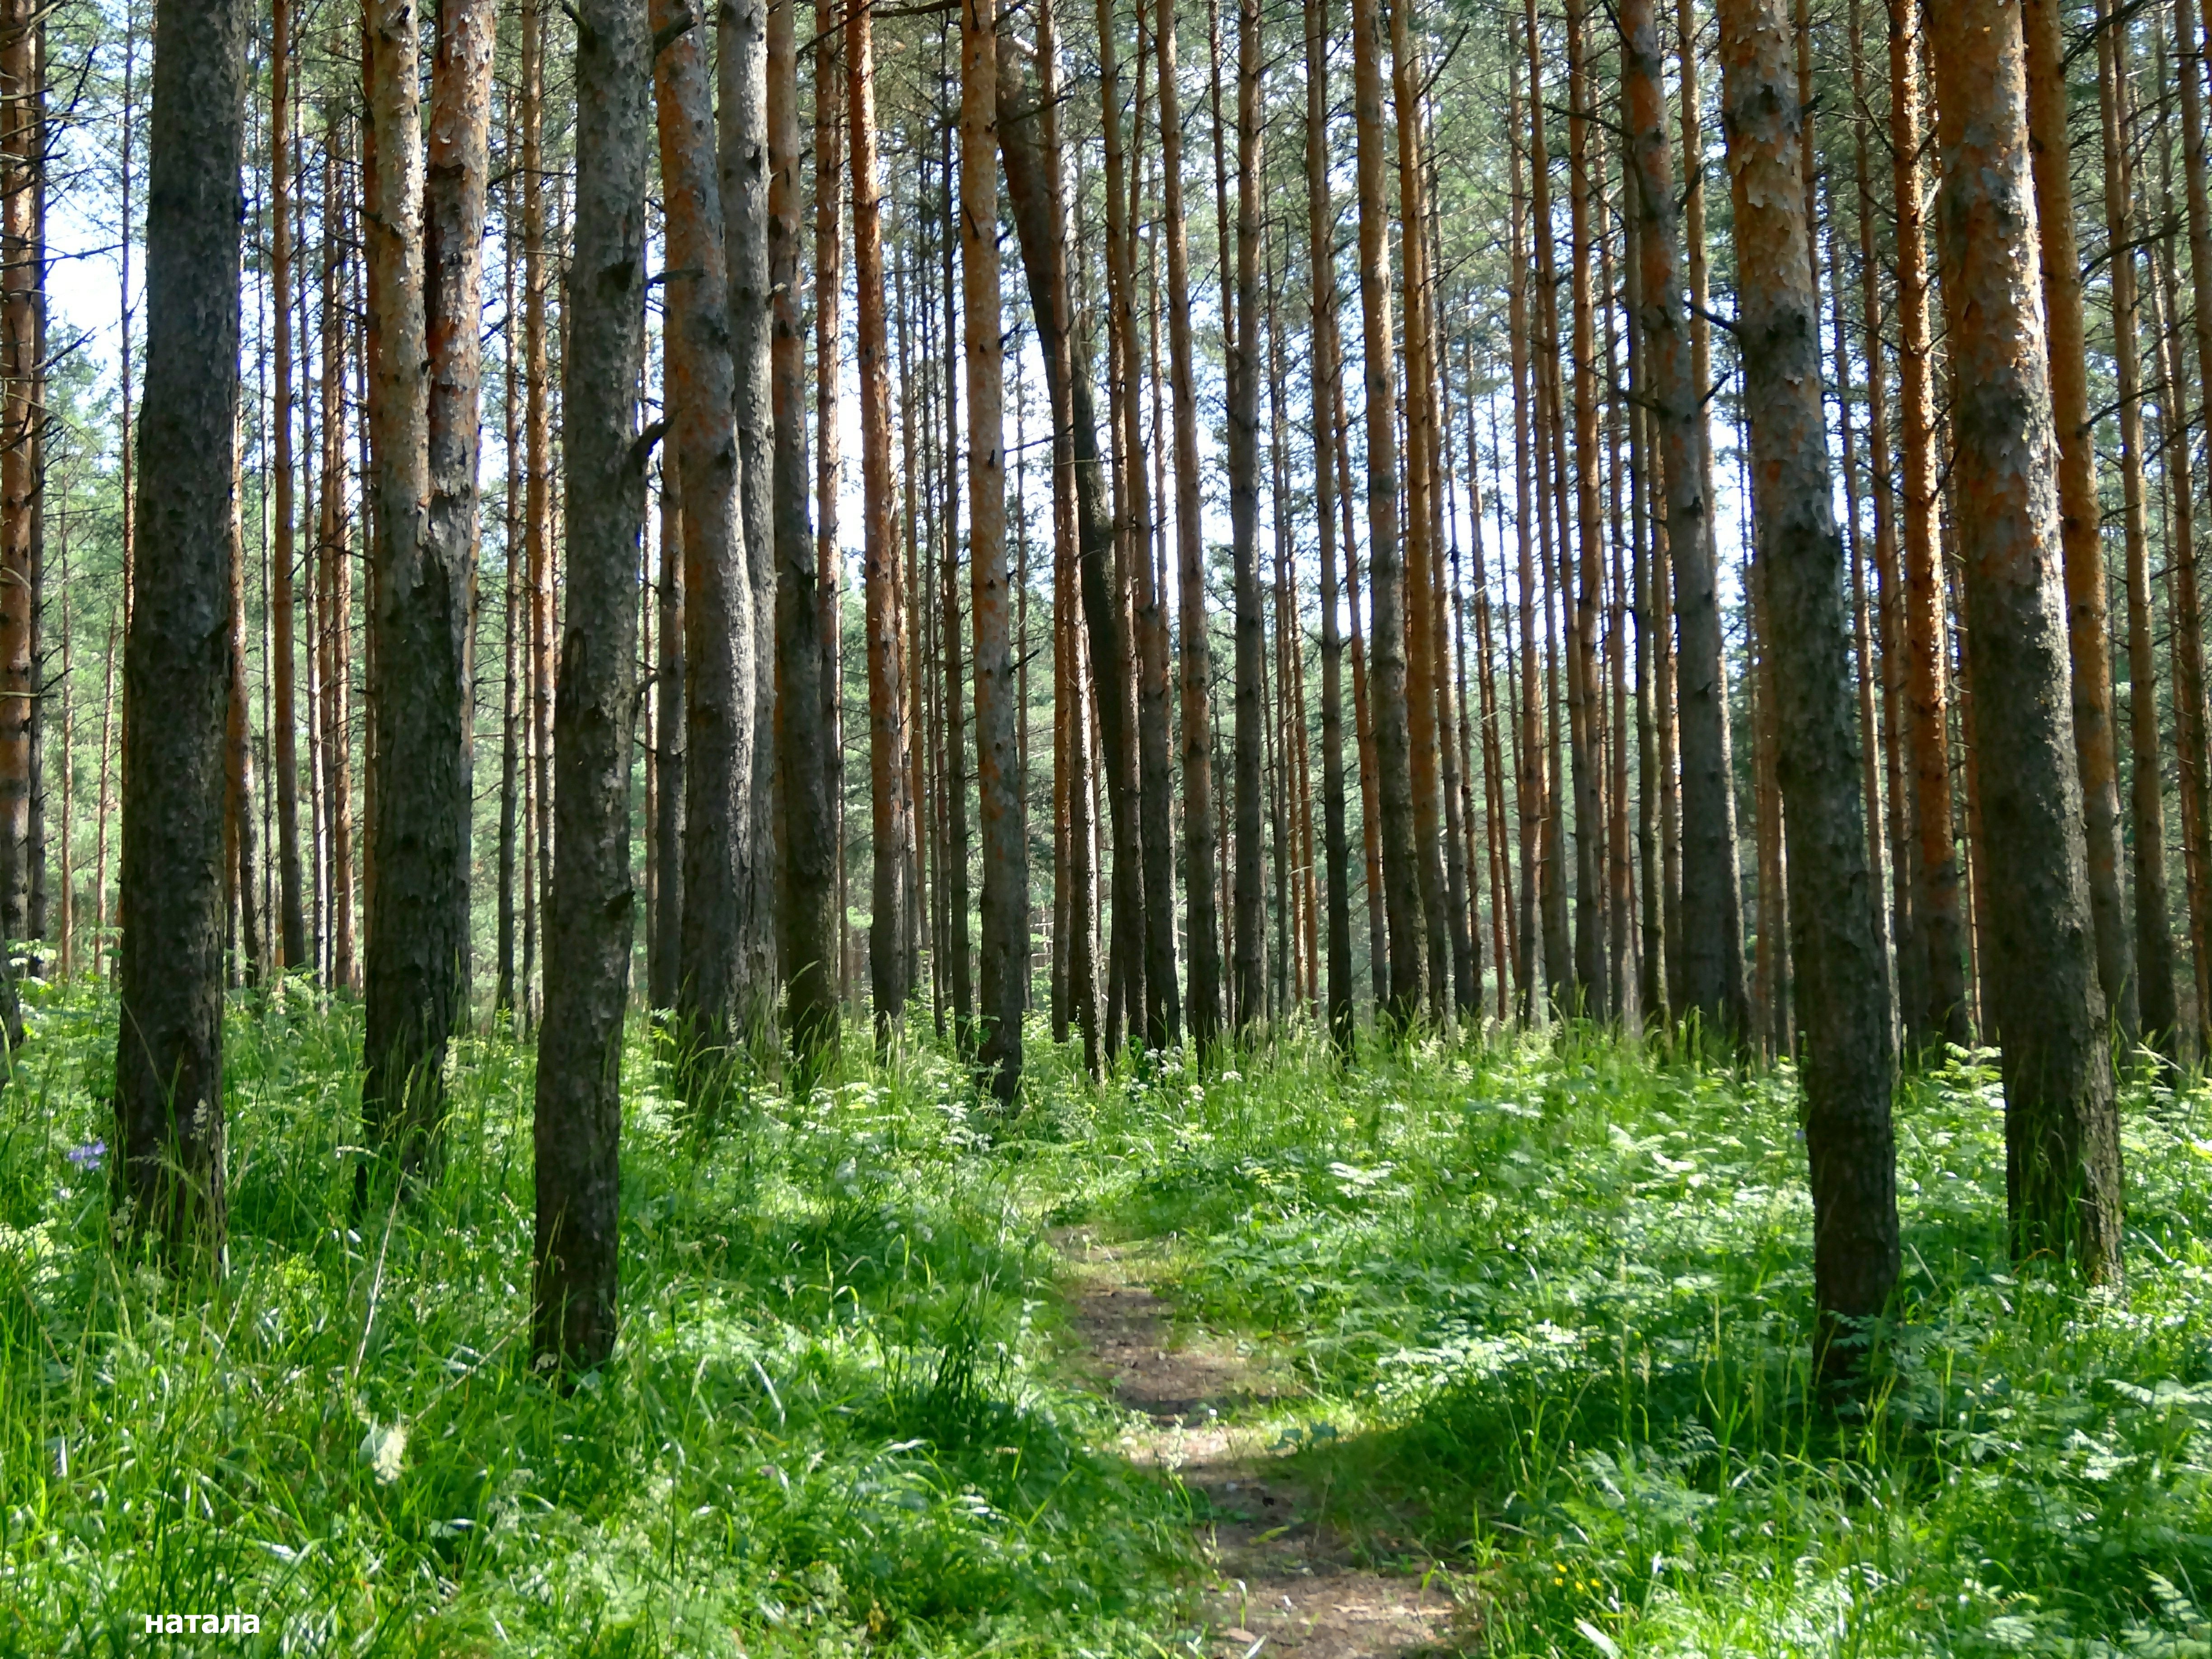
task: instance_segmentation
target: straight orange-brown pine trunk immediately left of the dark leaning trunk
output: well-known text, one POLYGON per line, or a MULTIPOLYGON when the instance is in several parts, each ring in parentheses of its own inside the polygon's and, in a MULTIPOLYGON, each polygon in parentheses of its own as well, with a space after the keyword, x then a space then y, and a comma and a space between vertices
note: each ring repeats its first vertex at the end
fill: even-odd
POLYGON ((1006 615, 1006 449, 998 285, 998 4, 960 11, 960 272, 969 394, 969 580, 975 615, 975 803, 982 818, 978 1062, 1002 1108, 1022 1091, 1029 1006, 1029 832, 1015 761, 1006 615))

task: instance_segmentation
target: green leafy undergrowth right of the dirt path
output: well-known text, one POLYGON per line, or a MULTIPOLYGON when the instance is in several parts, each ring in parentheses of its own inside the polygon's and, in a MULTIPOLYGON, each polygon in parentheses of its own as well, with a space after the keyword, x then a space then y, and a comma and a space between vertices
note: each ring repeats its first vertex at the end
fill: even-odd
POLYGON ((1495 1655, 2212 1652, 2212 1110, 2124 1095, 2128 1283, 2004 1256, 1991 1055, 1898 1095, 1905 1279, 1865 1398, 1809 1385, 1801 1095, 1613 1037, 1248 1062, 1102 1106, 1097 1223, 1369 1555, 1495 1655))

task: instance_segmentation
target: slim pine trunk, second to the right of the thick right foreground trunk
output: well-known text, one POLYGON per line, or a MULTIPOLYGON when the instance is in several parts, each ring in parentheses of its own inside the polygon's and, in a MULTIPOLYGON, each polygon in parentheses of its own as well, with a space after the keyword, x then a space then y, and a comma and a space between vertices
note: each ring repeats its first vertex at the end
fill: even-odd
POLYGON ((2143 500, 2143 365, 2137 321, 2135 179, 2128 33, 2097 13, 2097 111, 2104 126, 2104 226, 2110 250, 2112 365, 2119 380, 2121 542, 2128 584, 2128 816, 2135 856, 2135 982, 2143 1037, 2174 1055, 2174 933, 2166 887, 2166 787, 2159 763, 2150 526, 2143 500))

